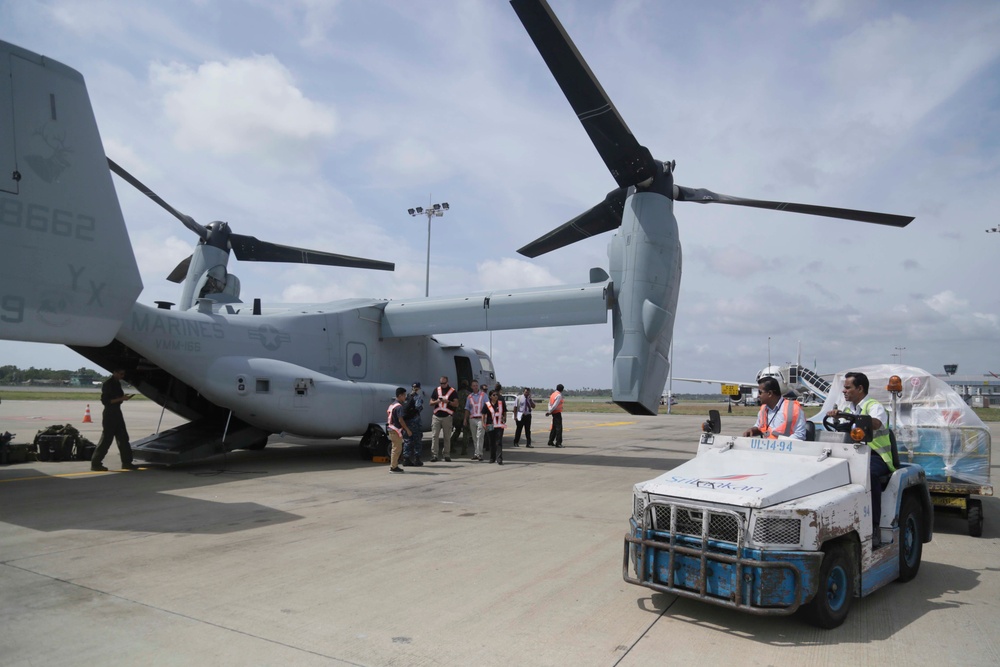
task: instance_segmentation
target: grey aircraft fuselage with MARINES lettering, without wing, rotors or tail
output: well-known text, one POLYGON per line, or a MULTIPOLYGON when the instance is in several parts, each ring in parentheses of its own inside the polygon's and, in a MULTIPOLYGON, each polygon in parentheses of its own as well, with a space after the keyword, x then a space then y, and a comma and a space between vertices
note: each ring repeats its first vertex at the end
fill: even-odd
MULTIPOLYGON (((476 350, 430 336, 380 338, 386 303, 351 299, 260 315, 247 304, 214 312, 136 304, 116 339, 141 358, 139 375, 162 369, 248 424, 312 437, 359 435, 384 422, 397 386, 420 380, 429 391, 440 375, 456 386, 493 379, 476 350)), ((169 387, 147 392, 141 379, 137 386, 178 407, 169 387)))

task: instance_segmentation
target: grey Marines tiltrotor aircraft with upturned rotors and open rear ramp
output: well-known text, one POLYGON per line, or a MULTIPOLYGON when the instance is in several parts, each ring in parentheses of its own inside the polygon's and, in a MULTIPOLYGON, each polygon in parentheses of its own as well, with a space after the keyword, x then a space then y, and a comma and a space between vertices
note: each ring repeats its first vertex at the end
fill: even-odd
POLYGON ((681 277, 677 201, 753 206, 897 227, 912 218, 741 199, 674 184, 653 158, 544 0, 511 3, 604 160, 617 188, 590 210, 524 246, 536 257, 617 230, 609 270, 576 285, 407 300, 346 299, 293 309, 240 299, 230 252, 251 261, 369 269, 384 262, 259 241, 224 222, 202 226, 105 156, 83 77, 0 42, 0 338, 61 343, 126 379, 190 423, 137 443, 138 458, 174 462, 262 447, 272 433, 381 441, 397 385, 493 379, 489 357, 433 334, 607 322, 614 401, 655 414, 681 277), (111 170, 109 170, 109 165, 111 170), (136 302, 142 289, 111 171, 199 236, 171 274, 176 308, 136 302))

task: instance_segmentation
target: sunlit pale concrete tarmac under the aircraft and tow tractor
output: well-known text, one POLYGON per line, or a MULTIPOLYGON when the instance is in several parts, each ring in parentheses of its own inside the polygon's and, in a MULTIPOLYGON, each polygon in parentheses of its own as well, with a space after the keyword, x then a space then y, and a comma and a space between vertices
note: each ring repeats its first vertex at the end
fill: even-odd
MULTIPOLYGON (((133 438, 157 428, 154 404, 124 410, 133 438)), ((0 431, 71 423, 96 442, 100 405, 96 423, 83 412, 4 401, 0 431)), ((723 414, 723 432, 749 422, 723 414)), ((535 448, 505 436, 502 467, 402 475, 356 440, 275 437, 169 469, 0 467, 0 663, 1000 664, 998 498, 978 539, 938 511, 916 579, 855 600, 834 630, 623 582, 632 486, 689 459, 700 423, 568 413, 554 449, 539 418, 535 448)))

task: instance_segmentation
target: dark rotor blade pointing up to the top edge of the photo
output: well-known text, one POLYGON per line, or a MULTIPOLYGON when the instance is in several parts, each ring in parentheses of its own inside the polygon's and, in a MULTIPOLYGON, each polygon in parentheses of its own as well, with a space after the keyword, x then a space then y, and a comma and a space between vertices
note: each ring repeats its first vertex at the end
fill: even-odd
POLYGON ((656 167, 649 149, 632 135, 548 3, 511 0, 510 4, 618 185, 636 185, 653 177, 656 167))

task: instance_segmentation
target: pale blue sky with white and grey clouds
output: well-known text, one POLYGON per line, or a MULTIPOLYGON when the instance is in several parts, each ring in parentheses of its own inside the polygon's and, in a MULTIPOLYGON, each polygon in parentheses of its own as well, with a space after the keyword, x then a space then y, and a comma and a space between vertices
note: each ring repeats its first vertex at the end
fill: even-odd
MULTIPOLYGON (((551 0, 639 142, 677 182, 916 216, 903 230, 675 207, 678 377, 888 363, 1000 371, 1000 4, 551 0)), ((610 234, 526 242, 615 187, 501 0, 0 0, 0 39, 87 80, 106 151, 201 223, 396 263, 232 261, 243 296, 317 302, 585 282, 610 234)), ((194 236, 116 178, 145 289, 194 236)), ((2 261, 2 259, 0 259, 2 261)), ((505 384, 610 387, 611 325, 449 335, 505 384)), ((78 368, 0 343, 0 365, 78 368)), ((675 384, 676 391, 702 391, 675 384)))

